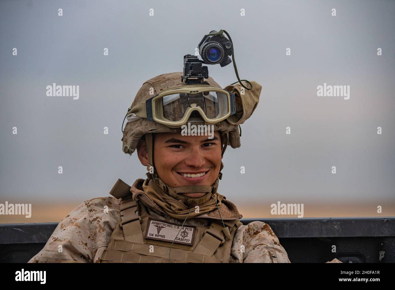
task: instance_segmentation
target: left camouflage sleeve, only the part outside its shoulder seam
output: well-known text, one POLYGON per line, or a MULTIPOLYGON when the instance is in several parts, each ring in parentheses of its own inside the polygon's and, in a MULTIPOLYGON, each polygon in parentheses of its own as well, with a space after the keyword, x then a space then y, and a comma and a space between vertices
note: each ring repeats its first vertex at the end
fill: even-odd
POLYGON ((60 221, 29 263, 92 262, 89 226, 88 207, 83 202, 60 221))

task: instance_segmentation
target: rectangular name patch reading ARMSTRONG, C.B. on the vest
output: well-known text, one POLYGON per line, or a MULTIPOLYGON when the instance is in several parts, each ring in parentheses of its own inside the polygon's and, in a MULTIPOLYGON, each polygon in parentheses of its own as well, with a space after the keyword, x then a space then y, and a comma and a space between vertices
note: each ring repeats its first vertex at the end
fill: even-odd
POLYGON ((194 243, 196 226, 183 226, 181 231, 180 228, 181 225, 149 218, 147 230, 145 231, 145 238, 173 242, 178 232, 180 232, 174 242, 192 246, 194 243))

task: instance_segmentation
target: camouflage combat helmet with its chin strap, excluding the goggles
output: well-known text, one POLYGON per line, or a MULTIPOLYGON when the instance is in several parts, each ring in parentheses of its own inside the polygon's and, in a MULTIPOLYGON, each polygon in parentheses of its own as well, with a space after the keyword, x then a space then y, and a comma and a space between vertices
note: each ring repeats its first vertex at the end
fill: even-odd
MULTIPOLYGON (((123 152, 132 154, 136 147, 137 143, 141 137, 145 136, 145 140, 147 142, 147 151, 149 156, 149 165, 147 166, 147 170, 153 173, 147 173, 147 177, 149 179, 153 179, 156 184, 162 188, 164 192, 167 192, 170 196, 181 200, 185 204, 198 204, 198 199, 206 199, 207 195, 211 193, 216 193, 218 188, 218 181, 222 178, 221 170, 223 168, 223 163, 221 162, 220 173, 218 174, 217 180, 214 182, 212 186, 204 186, 204 185, 194 185, 194 186, 182 186, 182 187, 170 187, 165 184, 158 176, 156 170, 153 165, 153 133, 181 133, 180 128, 170 128, 166 125, 147 120, 146 118, 138 117, 138 112, 136 105, 141 102, 145 102, 150 99, 153 95, 159 94, 163 90, 173 88, 176 86, 185 85, 184 82, 181 81, 182 72, 175 73, 165 73, 162 75, 158 75, 152 79, 147 80, 143 83, 139 91, 137 92, 135 99, 132 105, 129 107, 128 112, 126 114, 126 118, 128 122, 126 123, 123 130, 122 137, 122 149, 123 152), (203 198, 187 198, 186 196, 181 196, 179 193, 192 193, 192 192, 206 192, 207 194, 203 196, 203 198)), ((210 85, 216 88, 221 88, 219 84, 217 84, 211 77, 205 79, 205 81, 210 85)), ((240 147, 240 133, 239 133, 239 124, 244 123, 246 119, 248 119, 252 112, 255 110, 256 105, 258 105, 259 95, 261 92, 261 86, 257 82, 252 81, 253 88, 248 91, 248 94, 244 94, 244 90, 240 84, 229 85, 225 88, 225 90, 229 92, 233 92, 236 96, 236 114, 230 116, 228 119, 223 120, 214 124, 214 131, 219 131, 221 136, 221 142, 223 145, 222 148, 222 156, 226 150, 227 145, 229 144, 232 148, 240 147), (242 97, 241 97, 242 96, 242 97)))

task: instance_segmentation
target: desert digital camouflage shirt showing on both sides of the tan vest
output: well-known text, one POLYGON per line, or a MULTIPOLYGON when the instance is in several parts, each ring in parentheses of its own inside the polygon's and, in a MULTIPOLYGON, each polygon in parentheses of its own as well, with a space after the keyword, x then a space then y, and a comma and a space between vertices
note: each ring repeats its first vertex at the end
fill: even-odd
MULTIPOLYGON (((151 214, 155 216, 154 212, 151 214)), ((100 262, 120 220, 118 199, 107 196, 87 200, 60 221, 44 248, 29 263, 100 262)), ((197 222, 188 220, 188 225, 197 222)), ((254 221, 237 229, 229 262, 289 263, 290 260, 270 226, 254 221)))

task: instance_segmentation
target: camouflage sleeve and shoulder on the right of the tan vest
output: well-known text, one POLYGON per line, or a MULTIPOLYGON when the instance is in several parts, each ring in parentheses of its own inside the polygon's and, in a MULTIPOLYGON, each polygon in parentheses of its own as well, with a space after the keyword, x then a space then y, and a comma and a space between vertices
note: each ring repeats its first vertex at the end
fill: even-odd
POLYGON ((237 229, 229 262, 290 263, 290 260, 271 227, 254 221, 237 229))

